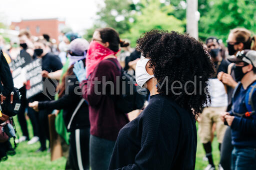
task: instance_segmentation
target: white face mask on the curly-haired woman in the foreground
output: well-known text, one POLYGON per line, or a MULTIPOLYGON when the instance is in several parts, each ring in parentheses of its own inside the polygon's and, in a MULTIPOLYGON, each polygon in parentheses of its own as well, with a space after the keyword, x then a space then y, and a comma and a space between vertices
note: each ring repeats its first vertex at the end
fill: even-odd
POLYGON ((141 54, 140 60, 137 61, 136 64, 136 70, 135 70, 135 78, 136 82, 140 87, 144 87, 144 84, 151 78, 154 77, 154 75, 150 75, 146 71, 146 64, 149 61, 148 58, 144 58, 141 54))

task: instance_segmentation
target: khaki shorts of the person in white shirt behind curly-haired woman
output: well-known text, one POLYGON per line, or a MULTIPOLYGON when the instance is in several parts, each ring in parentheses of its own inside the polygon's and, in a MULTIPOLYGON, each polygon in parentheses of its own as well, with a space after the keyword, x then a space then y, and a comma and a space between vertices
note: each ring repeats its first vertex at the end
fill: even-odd
POLYGON ((206 107, 200 115, 200 122, 198 123, 198 134, 200 141, 203 144, 210 142, 212 124, 216 124, 216 135, 218 143, 222 143, 226 126, 220 120, 220 114, 226 111, 226 107, 206 107))

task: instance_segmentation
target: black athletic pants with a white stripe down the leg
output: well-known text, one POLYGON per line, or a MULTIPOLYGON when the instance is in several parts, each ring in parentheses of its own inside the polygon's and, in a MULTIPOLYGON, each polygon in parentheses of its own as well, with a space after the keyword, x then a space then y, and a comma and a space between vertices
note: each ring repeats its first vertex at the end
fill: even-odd
POLYGON ((76 129, 70 133, 69 162, 72 170, 89 170, 90 129, 76 129))

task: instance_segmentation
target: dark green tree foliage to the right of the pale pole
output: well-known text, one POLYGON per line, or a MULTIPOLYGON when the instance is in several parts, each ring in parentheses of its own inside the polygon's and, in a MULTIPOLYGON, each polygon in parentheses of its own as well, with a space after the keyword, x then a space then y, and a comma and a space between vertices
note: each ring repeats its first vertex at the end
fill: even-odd
POLYGON ((226 40, 230 29, 244 27, 256 32, 255 0, 211 0, 210 10, 199 21, 199 35, 226 40))

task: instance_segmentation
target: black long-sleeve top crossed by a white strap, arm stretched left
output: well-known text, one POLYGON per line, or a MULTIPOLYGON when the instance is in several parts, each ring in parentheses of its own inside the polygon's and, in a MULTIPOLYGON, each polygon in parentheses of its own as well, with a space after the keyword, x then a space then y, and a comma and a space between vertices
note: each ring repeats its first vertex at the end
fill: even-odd
MULTIPOLYGON (((64 95, 60 97, 58 100, 39 102, 38 109, 63 109, 63 119, 67 127, 76 106, 82 99, 82 96, 81 89, 79 87, 79 82, 75 75, 69 77, 68 80, 63 79, 63 81, 66 81, 65 86, 66 88, 68 88, 68 90, 65 90, 64 95)), ((85 102, 83 102, 83 104, 80 106, 79 110, 77 111, 76 115, 72 120, 69 131, 89 127, 90 123, 88 105, 85 102)))

